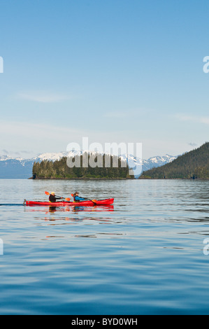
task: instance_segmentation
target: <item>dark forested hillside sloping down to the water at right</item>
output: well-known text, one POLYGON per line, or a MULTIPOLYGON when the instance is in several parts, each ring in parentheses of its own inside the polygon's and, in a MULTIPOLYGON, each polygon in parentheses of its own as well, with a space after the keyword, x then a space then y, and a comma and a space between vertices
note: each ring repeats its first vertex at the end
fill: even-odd
POLYGON ((151 179, 209 179, 209 143, 180 155, 173 162, 143 172, 142 178, 151 179))

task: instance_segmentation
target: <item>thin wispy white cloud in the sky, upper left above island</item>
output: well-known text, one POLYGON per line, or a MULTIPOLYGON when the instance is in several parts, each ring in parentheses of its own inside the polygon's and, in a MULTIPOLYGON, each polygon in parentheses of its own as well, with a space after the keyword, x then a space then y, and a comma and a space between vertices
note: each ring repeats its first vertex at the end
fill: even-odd
POLYGON ((55 103, 71 99, 71 97, 66 94, 56 94, 44 91, 18 92, 17 98, 38 103, 55 103))

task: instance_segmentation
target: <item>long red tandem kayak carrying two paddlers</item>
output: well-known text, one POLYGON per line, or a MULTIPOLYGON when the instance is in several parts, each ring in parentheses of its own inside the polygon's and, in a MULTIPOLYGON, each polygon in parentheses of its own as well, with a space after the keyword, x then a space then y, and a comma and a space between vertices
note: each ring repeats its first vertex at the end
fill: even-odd
POLYGON ((24 204, 26 206, 109 206, 110 204, 113 204, 114 199, 105 199, 105 200, 94 200, 92 202, 91 200, 85 200, 80 202, 41 202, 41 201, 27 201, 24 200, 24 204))

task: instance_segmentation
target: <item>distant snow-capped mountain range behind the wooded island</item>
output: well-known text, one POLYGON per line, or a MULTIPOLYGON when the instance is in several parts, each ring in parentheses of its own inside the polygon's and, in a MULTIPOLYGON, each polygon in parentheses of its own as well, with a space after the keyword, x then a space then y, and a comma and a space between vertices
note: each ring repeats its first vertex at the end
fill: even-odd
MULTIPOLYGON (((60 153, 43 153, 31 159, 12 158, 8 155, 0 156, 0 179, 28 179, 32 176, 34 162, 43 160, 60 160, 69 155, 78 154, 74 151, 60 153)), ((155 156, 148 160, 134 157, 134 155, 120 155, 123 160, 127 160, 129 167, 136 167, 136 178, 138 173, 165 165, 177 158, 173 155, 155 156)))

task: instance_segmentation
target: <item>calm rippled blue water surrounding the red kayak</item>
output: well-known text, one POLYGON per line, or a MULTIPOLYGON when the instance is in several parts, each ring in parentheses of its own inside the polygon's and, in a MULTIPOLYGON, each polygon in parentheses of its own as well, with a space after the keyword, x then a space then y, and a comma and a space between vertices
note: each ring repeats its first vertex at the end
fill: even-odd
POLYGON ((209 314, 209 181, 0 188, 0 314, 209 314), (114 208, 22 205, 52 190, 115 197, 114 208))

